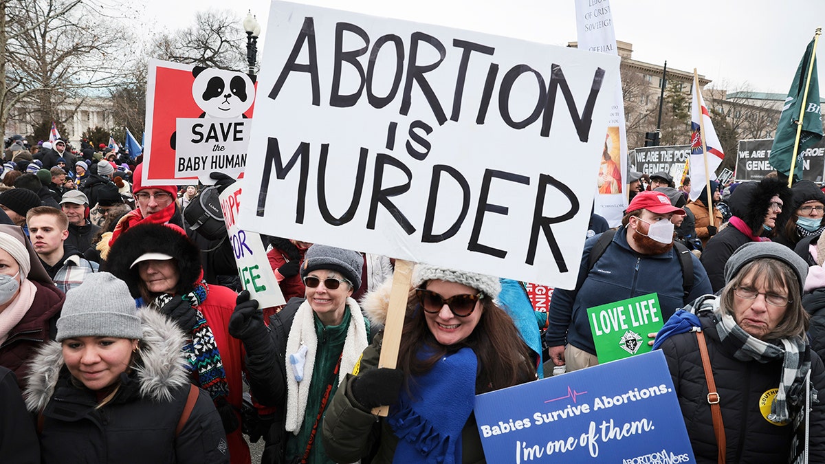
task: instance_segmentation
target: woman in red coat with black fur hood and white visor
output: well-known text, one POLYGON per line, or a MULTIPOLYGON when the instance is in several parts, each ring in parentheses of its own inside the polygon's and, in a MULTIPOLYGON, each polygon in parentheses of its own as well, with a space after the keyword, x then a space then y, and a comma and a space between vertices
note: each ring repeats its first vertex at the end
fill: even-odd
POLYGON ((139 305, 169 316, 188 335, 193 383, 208 391, 224 420, 233 463, 250 462, 241 435, 243 346, 229 336, 234 291, 203 280, 200 249, 177 225, 131 226, 112 244, 106 271, 124 280, 139 305))

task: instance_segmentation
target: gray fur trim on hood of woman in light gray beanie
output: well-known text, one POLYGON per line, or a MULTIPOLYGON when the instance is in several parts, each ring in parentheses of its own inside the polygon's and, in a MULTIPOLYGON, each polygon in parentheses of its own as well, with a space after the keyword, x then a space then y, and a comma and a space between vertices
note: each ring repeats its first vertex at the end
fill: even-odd
MULTIPOLYGON (((140 362, 135 370, 140 395, 155 401, 172 400, 172 393, 189 383, 186 373, 186 338, 172 321, 158 311, 138 310, 143 339, 137 352, 140 362)), ((64 367, 63 348, 59 342, 45 343, 32 358, 26 383, 26 408, 40 411, 49 403, 64 367)))

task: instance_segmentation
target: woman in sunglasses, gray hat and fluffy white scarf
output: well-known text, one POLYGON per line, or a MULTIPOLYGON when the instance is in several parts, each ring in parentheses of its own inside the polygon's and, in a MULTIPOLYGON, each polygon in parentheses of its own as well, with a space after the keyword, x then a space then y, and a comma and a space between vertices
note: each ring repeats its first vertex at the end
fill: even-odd
POLYGON ((370 342, 370 326, 351 298, 361 286, 361 253, 314 244, 300 273, 305 298, 292 298, 271 315, 269 329, 257 301, 238 296, 229 334, 246 349, 250 391, 276 417, 262 434, 262 462, 332 463, 320 429, 329 400, 370 342))

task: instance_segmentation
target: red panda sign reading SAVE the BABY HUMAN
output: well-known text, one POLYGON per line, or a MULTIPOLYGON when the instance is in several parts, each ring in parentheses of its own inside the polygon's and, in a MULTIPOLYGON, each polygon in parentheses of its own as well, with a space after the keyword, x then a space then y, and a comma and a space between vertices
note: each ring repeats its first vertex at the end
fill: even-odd
POLYGON ((243 173, 255 101, 245 73, 149 60, 144 185, 243 173))

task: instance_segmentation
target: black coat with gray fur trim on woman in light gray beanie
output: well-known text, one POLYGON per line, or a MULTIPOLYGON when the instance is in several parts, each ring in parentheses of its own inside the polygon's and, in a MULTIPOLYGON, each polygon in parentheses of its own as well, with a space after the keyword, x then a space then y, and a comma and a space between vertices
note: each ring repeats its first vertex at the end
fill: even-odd
POLYGON ((177 326, 155 310, 139 310, 144 340, 139 369, 120 375, 114 398, 100 398, 74 380, 64 366, 60 343, 50 342, 35 357, 26 388, 26 405, 42 411, 40 452, 50 462, 202 464, 229 462, 218 411, 198 391, 189 419, 176 432, 189 396, 185 339, 177 326))

